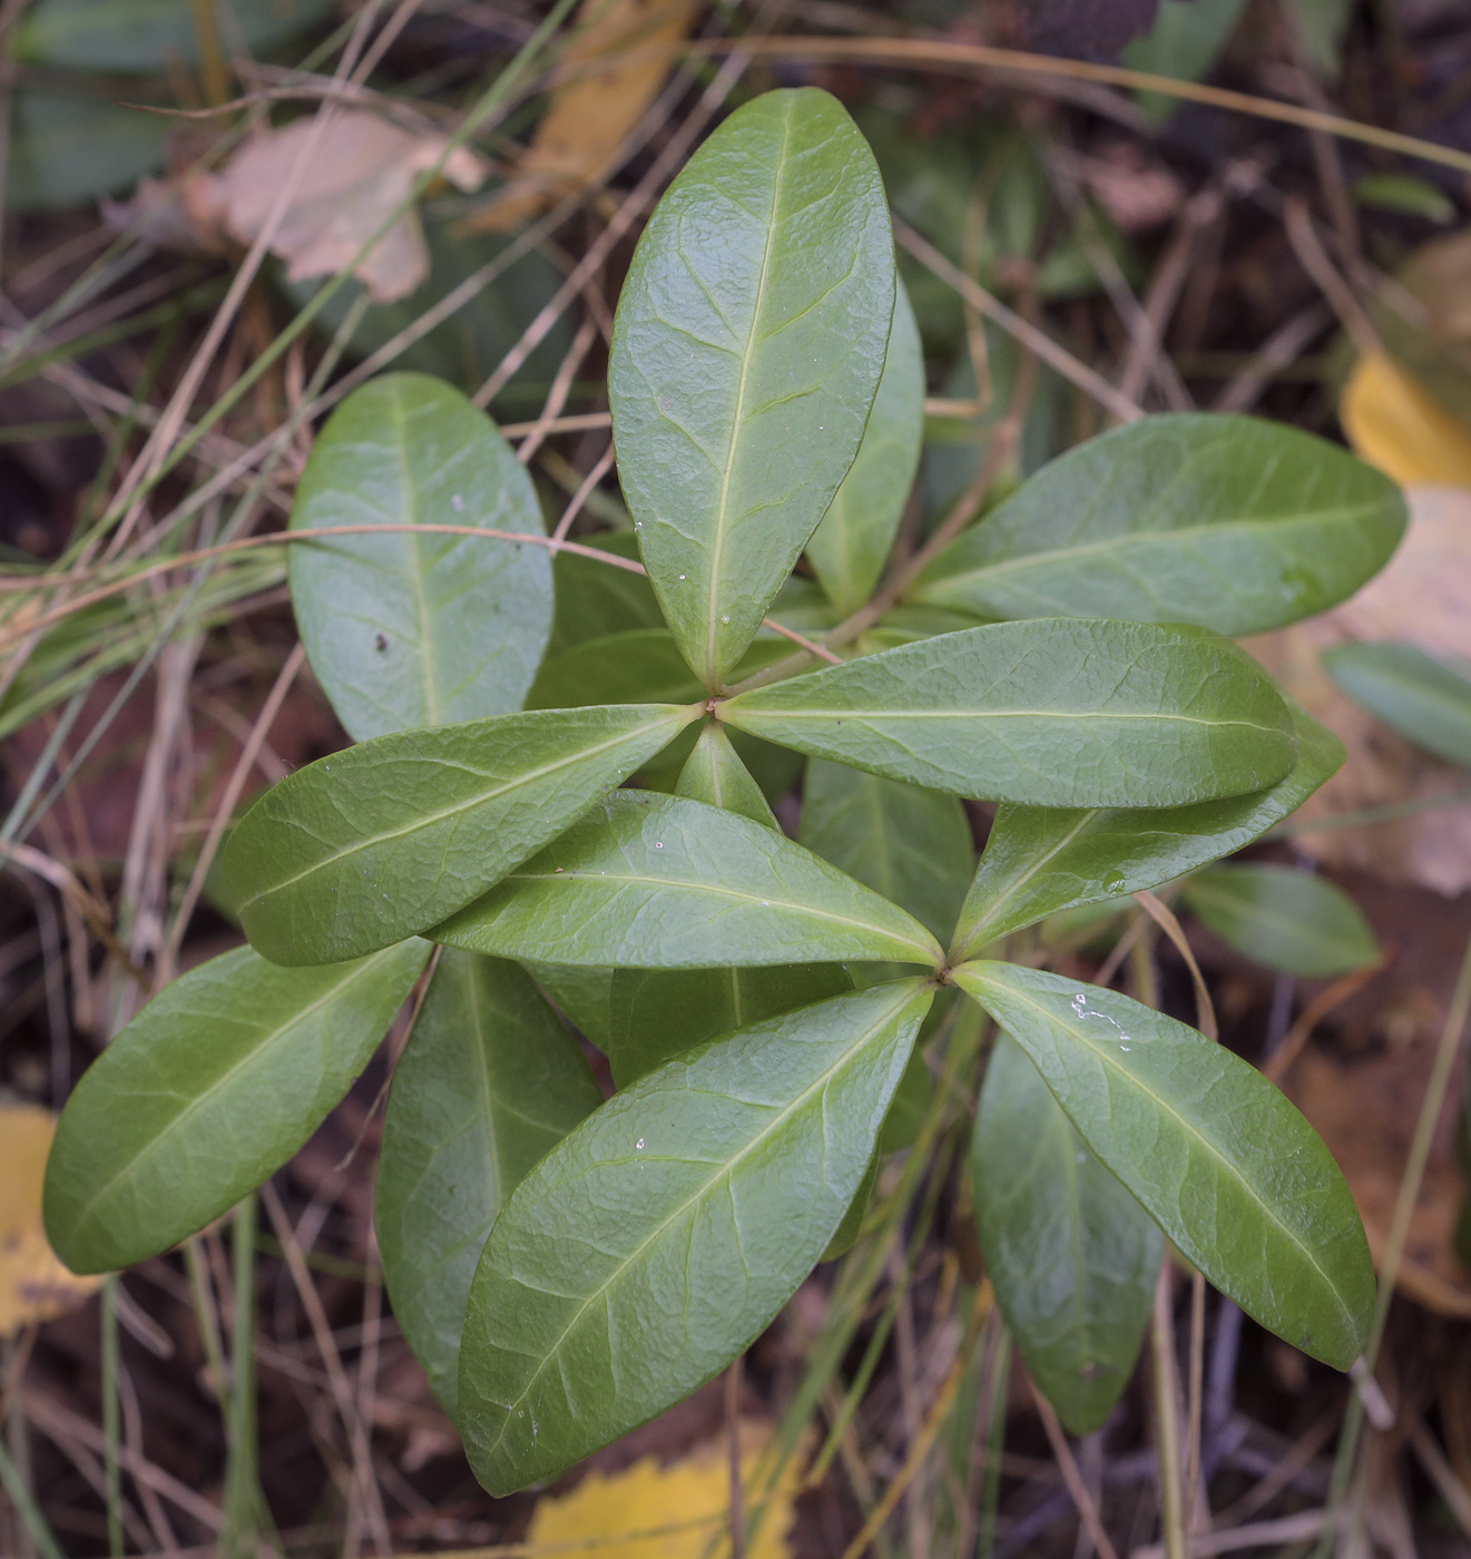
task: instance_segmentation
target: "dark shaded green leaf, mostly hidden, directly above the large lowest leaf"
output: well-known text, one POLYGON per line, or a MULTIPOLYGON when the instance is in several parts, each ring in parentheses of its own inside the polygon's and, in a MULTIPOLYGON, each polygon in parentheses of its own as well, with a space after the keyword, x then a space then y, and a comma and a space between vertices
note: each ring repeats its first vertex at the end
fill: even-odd
POLYGON ((841 963, 614 970, 608 1060, 626 1088, 697 1045, 852 990, 841 963))

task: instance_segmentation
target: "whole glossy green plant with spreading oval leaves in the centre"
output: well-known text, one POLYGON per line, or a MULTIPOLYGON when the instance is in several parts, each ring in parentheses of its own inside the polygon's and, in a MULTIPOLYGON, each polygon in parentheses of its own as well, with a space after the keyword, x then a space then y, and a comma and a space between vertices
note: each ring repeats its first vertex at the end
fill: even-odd
POLYGON ((877 167, 815 89, 745 104, 673 182, 608 391, 634 535, 581 552, 549 544, 525 468, 444 384, 385 376, 327 422, 290 585, 357 745, 235 826, 249 946, 83 1077, 47 1177, 56 1250, 123 1267, 218 1218, 418 990, 383 1271, 505 1494, 751 1344, 862 1218, 932 1006, 975 1002, 997 1035, 982 1246, 1071 1428, 1122 1389, 1164 1241, 1348 1369, 1373 1272, 1303 1116, 1195 1029, 1007 949, 1259 839, 1332 773, 1334 737, 1228 636, 1374 574, 1398 490, 1286 427, 1147 418, 876 594, 924 369, 877 167), (804 552, 817 585, 792 578, 804 552), (770 625, 788 606, 817 645, 770 625), (793 840, 762 781, 803 759, 793 840), (997 803, 974 876, 960 798, 997 803))

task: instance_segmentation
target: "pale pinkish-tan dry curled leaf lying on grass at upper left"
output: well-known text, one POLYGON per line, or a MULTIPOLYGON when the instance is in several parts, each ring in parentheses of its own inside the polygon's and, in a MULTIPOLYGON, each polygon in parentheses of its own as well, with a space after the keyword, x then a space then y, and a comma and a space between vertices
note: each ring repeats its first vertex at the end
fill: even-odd
MULTIPOLYGON (((218 171, 192 179, 184 204, 203 234, 226 232, 254 243, 282 186, 307 156, 271 249, 287 262, 287 279, 337 276, 408 200, 414 179, 444 156, 446 137, 400 129, 363 109, 332 117, 318 134, 315 117, 299 118, 242 147, 218 171)), ((486 165, 466 147, 444 157, 443 175, 461 190, 480 189, 486 165)), ((429 276, 429 249, 413 207, 383 234, 355 274, 374 302, 407 298, 429 276)))

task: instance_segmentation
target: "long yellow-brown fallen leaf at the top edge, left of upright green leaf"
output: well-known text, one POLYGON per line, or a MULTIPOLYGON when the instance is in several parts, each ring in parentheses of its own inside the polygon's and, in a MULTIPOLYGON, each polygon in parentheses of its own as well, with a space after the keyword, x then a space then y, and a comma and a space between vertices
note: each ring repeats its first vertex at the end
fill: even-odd
POLYGON ((609 171, 623 137, 668 75, 670 56, 656 45, 679 42, 693 19, 693 0, 583 0, 561 67, 567 80, 553 89, 516 176, 471 226, 514 228, 609 171), (601 56, 637 50, 650 53, 583 69, 601 56))

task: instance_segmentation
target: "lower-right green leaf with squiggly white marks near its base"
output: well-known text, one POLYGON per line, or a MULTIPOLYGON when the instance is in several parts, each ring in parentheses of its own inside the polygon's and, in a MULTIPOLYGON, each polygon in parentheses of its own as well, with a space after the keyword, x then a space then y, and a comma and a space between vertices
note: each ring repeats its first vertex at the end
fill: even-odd
POLYGON ((1181 1253, 1334 1369, 1359 1356, 1374 1269, 1314 1129, 1239 1055, 1097 985, 966 963, 955 984, 1032 1057, 1072 1124, 1181 1253))

